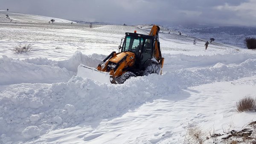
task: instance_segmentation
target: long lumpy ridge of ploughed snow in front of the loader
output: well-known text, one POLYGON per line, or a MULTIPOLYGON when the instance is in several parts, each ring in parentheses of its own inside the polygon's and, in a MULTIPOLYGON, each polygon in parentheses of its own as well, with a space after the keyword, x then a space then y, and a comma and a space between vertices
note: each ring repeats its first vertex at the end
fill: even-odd
POLYGON ((146 101, 168 97, 188 86, 256 75, 256 60, 238 65, 216 63, 165 75, 131 78, 124 84, 101 84, 73 76, 68 82, 15 84, 0 93, 1 141, 27 141, 56 128, 121 115, 146 101))

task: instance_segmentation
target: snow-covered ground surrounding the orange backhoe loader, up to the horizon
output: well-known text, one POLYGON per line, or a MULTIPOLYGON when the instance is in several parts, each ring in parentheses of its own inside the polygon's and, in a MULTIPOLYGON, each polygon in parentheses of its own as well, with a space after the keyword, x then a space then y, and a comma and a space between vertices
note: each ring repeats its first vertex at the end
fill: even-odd
MULTIPOLYGON (((0 143, 180 144, 187 128, 223 133, 255 113, 236 101, 256 95, 256 51, 161 32, 163 75, 104 84, 76 77, 118 51, 135 26, 0 23, 0 143), (19 44, 31 52, 14 54, 19 44)), ((212 143, 212 139, 207 142, 212 143)), ((218 141, 220 142, 220 140, 218 141)), ((185 142, 186 143, 186 142, 185 142)))

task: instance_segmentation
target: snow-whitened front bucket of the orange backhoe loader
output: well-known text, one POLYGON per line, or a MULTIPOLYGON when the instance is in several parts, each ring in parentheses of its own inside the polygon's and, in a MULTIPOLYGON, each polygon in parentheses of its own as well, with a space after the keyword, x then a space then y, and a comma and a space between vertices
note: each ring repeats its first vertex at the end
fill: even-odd
POLYGON ((80 64, 78 66, 76 76, 82 78, 90 78, 92 80, 100 81, 102 83, 111 83, 110 75, 108 72, 102 72, 95 68, 84 66, 83 64, 80 64))

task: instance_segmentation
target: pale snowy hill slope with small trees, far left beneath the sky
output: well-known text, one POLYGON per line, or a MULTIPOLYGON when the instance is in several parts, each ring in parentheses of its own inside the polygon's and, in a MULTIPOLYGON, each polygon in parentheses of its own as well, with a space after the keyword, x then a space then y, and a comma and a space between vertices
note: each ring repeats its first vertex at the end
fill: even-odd
POLYGON ((48 23, 51 19, 54 19, 55 23, 71 23, 70 20, 64 20, 55 17, 45 17, 40 15, 32 15, 32 14, 21 14, 17 12, 9 12, 0 10, 0 22, 32 22, 32 23, 48 23), (8 14, 9 18, 6 18, 6 14, 8 14))

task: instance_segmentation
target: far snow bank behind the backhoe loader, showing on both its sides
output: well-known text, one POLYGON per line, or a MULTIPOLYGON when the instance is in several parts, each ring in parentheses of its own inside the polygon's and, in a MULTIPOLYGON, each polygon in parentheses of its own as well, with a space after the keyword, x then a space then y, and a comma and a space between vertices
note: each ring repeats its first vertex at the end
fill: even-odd
MULTIPOLYGON (((0 85, 20 83, 45 83, 67 82, 77 73, 80 63, 96 67, 106 55, 83 55, 77 51, 67 60, 49 60, 47 58, 32 58, 15 60, 3 56, 0 58, 0 85)), ((213 66, 216 63, 238 64, 248 58, 256 58, 249 54, 224 54, 224 55, 199 55, 190 56, 184 54, 164 54, 163 71, 172 72, 178 69, 213 66)))

